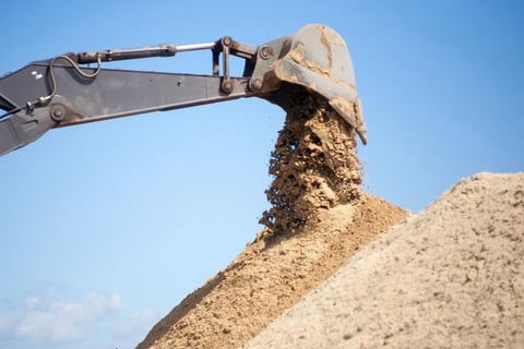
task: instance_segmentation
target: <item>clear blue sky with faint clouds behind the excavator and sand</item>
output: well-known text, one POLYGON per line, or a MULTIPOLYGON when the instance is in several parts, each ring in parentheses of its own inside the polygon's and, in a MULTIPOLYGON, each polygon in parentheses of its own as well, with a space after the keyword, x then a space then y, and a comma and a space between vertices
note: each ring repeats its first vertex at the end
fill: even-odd
MULTIPOLYGON (((418 212, 460 178, 524 170, 521 3, 8 0, 0 73, 68 51, 224 35, 257 46, 326 24, 355 65, 365 189, 418 212)), ((180 53, 122 67, 210 64, 180 53)), ((0 349, 133 348, 261 230, 284 117, 240 99, 52 130, 1 157, 0 349)))

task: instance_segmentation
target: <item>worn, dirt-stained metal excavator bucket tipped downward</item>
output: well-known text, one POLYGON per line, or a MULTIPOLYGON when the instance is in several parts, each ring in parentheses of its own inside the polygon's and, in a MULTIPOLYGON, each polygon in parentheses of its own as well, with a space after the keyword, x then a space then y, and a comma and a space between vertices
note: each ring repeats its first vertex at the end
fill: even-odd
POLYGON ((330 27, 311 24, 287 37, 282 48, 267 72, 270 80, 298 84, 323 96, 366 144, 366 123, 344 39, 330 27))

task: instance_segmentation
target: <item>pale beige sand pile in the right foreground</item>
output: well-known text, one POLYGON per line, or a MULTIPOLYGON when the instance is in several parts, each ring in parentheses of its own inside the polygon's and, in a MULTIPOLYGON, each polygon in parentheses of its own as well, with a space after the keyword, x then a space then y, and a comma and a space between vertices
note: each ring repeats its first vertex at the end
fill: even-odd
POLYGON ((243 348, 524 348, 523 324, 524 172, 480 173, 243 348))

